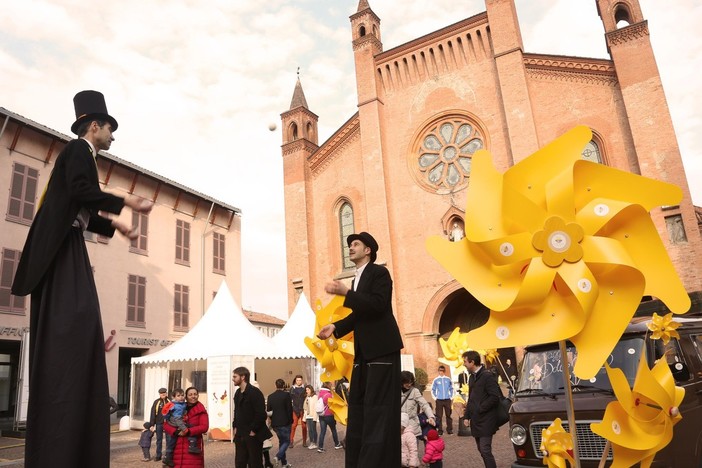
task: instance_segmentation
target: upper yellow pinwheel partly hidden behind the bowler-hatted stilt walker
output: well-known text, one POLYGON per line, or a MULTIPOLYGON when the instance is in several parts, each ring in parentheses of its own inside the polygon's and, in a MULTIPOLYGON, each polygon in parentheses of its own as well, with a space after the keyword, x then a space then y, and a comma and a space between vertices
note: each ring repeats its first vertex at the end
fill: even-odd
POLYGON ((317 300, 315 309, 317 316, 314 326, 315 338, 305 337, 305 344, 324 368, 321 380, 322 382, 330 382, 346 377, 350 381, 354 357, 353 333, 338 340, 334 336, 330 336, 326 340, 320 340, 316 336, 325 325, 348 316, 351 309, 344 307, 343 296, 334 296, 324 307, 317 300))

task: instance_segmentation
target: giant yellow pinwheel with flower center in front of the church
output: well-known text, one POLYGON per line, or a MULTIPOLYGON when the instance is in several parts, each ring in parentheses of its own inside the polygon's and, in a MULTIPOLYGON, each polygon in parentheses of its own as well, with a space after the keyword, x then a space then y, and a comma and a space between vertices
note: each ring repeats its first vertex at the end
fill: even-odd
POLYGON ((648 212, 682 191, 581 159, 591 140, 576 127, 504 174, 490 153, 473 156, 466 237, 434 236, 427 249, 476 299, 488 322, 468 333, 474 348, 570 339, 574 372, 591 378, 643 294, 684 313, 690 299, 648 212))

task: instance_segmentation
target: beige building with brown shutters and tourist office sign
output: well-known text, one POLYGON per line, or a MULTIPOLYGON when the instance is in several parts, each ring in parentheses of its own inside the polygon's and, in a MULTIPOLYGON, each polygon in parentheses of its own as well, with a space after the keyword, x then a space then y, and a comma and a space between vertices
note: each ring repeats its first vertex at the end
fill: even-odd
MULTIPOLYGON (((10 294, 14 270, 56 157, 71 139, 0 108, 0 418, 14 417, 22 341, 29 331, 29 296, 10 294)), ((97 165, 103 190, 155 203, 148 216, 130 219, 130 210, 123 211, 125 222, 139 226, 136 241, 85 233, 110 394, 126 408, 132 357, 185 335, 222 281, 241 304, 241 211, 109 153, 100 152, 97 165)), ((185 388, 196 378, 174 374, 169 388, 185 388)))

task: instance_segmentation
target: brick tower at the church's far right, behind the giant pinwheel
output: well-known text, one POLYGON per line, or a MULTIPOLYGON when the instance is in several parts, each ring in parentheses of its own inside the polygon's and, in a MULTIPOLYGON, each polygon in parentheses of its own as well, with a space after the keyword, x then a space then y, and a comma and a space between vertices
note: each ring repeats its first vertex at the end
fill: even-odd
POLYGON ((702 294, 702 239, 651 48, 648 22, 638 0, 597 0, 597 10, 636 153, 629 169, 682 189, 679 205, 658 208, 651 214, 688 293, 702 294))

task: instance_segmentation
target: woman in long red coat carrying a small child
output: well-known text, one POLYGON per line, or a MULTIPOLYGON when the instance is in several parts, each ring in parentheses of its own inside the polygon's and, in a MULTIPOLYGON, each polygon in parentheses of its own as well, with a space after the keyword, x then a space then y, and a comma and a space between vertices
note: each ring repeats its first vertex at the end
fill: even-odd
POLYGON ((188 428, 185 431, 178 429, 169 422, 164 421, 163 430, 171 437, 178 437, 175 450, 169 454, 169 461, 176 468, 205 467, 205 448, 202 443, 202 435, 207 433, 210 427, 210 420, 207 416, 207 410, 202 403, 198 401, 198 391, 195 387, 188 387, 185 390, 185 401, 187 404, 186 413, 183 416, 188 428), (190 447, 188 438, 196 437, 196 448, 190 447), (199 452, 199 453, 193 453, 199 452))

